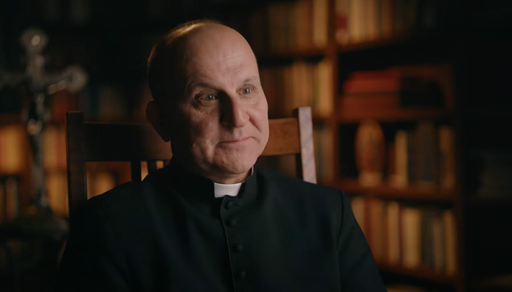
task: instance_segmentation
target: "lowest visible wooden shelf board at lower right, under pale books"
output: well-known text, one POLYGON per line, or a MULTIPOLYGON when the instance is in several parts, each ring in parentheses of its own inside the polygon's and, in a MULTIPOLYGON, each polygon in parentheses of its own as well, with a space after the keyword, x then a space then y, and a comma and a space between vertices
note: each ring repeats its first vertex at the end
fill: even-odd
POLYGON ((429 280, 436 283, 455 285, 456 276, 446 275, 430 268, 406 268, 401 265, 394 265, 384 262, 377 262, 381 272, 409 276, 422 280, 429 280))

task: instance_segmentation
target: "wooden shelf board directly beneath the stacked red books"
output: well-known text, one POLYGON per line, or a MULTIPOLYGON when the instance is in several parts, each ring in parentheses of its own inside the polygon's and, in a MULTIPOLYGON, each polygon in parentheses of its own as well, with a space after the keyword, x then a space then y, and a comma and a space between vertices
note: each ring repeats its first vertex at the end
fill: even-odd
POLYGON ((365 119, 373 119, 380 122, 414 121, 420 119, 450 118, 452 110, 448 109, 397 109, 389 111, 367 111, 339 114, 337 120, 342 123, 357 123, 365 119))

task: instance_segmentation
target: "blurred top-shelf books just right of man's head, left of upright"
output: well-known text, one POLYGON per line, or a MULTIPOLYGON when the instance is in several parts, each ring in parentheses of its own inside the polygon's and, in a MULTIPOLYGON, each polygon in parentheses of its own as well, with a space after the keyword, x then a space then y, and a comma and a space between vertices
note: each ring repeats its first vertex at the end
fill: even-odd
POLYGON ((328 0, 271 2, 249 19, 249 42, 255 52, 325 48, 328 43, 328 0))

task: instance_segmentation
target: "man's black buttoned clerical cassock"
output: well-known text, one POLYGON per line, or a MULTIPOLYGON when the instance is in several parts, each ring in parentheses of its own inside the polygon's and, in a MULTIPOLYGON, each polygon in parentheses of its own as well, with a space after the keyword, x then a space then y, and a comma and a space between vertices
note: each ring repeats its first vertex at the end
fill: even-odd
POLYGON ((215 198, 172 160, 74 224, 58 291, 386 291, 345 194, 256 167, 215 198))

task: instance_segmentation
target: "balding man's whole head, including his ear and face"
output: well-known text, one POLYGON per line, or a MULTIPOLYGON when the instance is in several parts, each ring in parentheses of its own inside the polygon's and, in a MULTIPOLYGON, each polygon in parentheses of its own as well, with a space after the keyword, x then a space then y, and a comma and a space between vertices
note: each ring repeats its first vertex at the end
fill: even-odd
POLYGON ((169 32, 148 62, 146 116, 173 159, 221 184, 245 180, 268 140, 268 104, 245 38, 216 23, 169 32))

